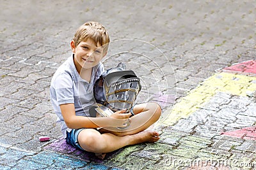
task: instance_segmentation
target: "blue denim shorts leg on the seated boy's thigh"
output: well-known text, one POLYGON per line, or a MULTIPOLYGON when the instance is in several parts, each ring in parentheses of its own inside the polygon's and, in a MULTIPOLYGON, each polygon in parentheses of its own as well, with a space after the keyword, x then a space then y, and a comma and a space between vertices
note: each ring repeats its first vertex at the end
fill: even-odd
POLYGON ((84 128, 72 129, 72 131, 70 131, 70 132, 67 131, 67 138, 66 138, 67 143, 74 146, 74 148, 83 150, 83 148, 78 143, 78 134, 79 134, 79 132, 81 132, 83 130, 84 130, 84 128))

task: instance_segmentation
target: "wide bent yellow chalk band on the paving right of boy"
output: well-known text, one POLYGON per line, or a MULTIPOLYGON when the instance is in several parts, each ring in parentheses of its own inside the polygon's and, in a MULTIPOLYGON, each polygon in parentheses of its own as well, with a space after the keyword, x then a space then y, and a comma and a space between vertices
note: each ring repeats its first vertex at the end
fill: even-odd
POLYGON ((207 78, 196 89, 193 89, 185 97, 182 97, 172 109, 166 110, 168 117, 158 124, 173 125, 180 118, 187 118, 198 108, 202 108, 212 96, 218 92, 246 96, 246 92, 255 92, 256 77, 232 73, 216 73, 207 78), (252 82, 254 80, 254 82, 252 82))

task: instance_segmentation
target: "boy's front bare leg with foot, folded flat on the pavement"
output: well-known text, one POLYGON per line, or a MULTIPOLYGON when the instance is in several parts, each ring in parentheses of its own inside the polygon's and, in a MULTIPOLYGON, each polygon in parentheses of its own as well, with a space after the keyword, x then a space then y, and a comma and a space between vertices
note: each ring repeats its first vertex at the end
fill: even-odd
POLYGON ((116 136, 111 133, 100 134, 95 129, 84 129, 78 135, 79 145, 88 152, 108 153, 127 145, 143 142, 156 142, 159 134, 152 131, 143 131, 138 134, 116 136))

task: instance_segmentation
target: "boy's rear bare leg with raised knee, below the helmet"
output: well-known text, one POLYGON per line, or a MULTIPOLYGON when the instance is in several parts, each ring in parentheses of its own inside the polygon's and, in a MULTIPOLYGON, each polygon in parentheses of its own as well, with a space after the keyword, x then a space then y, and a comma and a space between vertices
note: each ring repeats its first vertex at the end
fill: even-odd
POLYGON ((125 136, 145 131, 150 125, 154 124, 161 116, 161 108, 156 103, 143 103, 134 106, 134 116, 131 117, 131 125, 127 129, 100 129, 101 133, 109 132, 116 136, 125 136))

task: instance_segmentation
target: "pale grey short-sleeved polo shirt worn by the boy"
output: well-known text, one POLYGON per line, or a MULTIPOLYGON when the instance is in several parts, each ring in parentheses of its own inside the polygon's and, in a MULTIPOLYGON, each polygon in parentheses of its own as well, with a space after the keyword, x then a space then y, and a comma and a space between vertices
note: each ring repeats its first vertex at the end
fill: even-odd
POLYGON ((66 138, 66 131, 70 132, 61 115, 60 104, 74 103, 77 116, 90 117, 90 106, 95 104, 93 85, 104 72, 104 66, 100 62, 93 67, 90 83, 83 80, 77 73, 73 55, 61 64, 52 76, 50 96, 57 122, 61 125, 61 132, 66 138))

